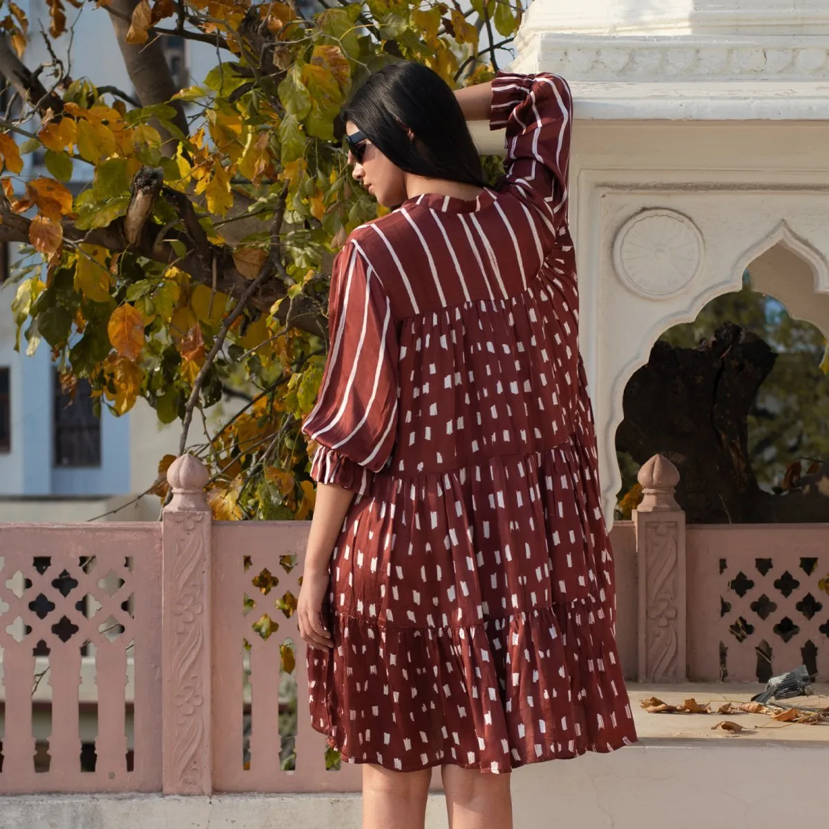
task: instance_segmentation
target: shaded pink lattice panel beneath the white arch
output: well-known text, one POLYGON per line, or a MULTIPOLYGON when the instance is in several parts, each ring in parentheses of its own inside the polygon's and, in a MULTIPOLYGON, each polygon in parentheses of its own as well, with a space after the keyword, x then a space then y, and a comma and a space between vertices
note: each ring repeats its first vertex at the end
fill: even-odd
POLYGON ((691 679, 767 681, 805 664, 829 680, 826 526, 687 531, 691 679))

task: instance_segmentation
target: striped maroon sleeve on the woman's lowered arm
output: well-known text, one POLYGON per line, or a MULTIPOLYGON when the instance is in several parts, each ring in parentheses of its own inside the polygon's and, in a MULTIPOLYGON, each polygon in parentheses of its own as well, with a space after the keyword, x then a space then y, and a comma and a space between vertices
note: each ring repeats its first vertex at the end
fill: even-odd
POLYGON ((311 477, 362 493, 397 436, 398 342, 383 285, 352 243, 334 263, 328 332, 317 404, 303 421, 319 444, 311 477))

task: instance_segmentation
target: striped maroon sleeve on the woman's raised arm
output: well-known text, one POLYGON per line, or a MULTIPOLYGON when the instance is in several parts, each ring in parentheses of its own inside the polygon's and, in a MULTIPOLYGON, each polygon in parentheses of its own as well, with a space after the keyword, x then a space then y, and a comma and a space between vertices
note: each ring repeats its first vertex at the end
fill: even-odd
POLYGON ((573 103, 558 75, 498 73, 490 128, 507 128, 507 182, 544 200, 556 226, 566 220, 573 103))

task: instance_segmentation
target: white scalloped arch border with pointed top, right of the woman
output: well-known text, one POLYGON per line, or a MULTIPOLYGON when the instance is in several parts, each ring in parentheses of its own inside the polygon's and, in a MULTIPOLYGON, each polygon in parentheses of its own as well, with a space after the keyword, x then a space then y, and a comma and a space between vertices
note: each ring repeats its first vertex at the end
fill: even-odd
POLYGON ((742 276, 748 269, 755 291, 777 299, 791 317, 810 322, 824 336, 829 337, 827 258, 816 246, 795 234, 786 221, 779 222, 771 233, 764 235, 730 262, 726 260, 724 264, 727 264, 727 270, 722 269, 717 273, 715 269, 707 279, 700 280, 698 289, 684 292, 680 301, 675 299, 674 302, 667 303, 664 313, 655 324, 643 328, 638 337, 635 336, 635 330, 630 332, 633 342, 628 343, 629 359, 623 369, 618 371, 609 400, 606 401, 610 411, 609 417, 604 420, 608 428, 604 432, 606 468, 602 470, 602 490, 608 521, 613 516, 613 507, 622 483, 616 462, 616 431, 624 417, 624 390, 634 372, 647 364, 653 344, 662 336, 662 332, 681 322, 693 322, 711 300, 739 290, 742 276))

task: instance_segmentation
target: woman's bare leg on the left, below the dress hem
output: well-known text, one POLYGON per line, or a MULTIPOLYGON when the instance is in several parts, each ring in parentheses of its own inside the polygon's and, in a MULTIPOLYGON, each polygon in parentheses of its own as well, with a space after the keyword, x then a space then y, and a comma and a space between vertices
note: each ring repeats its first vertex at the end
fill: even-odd
POLYGON ((363 766, 363 829, 424 829, 432 769, 393 772, 363 766))

